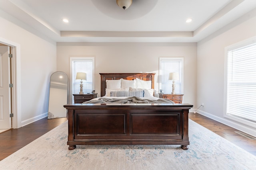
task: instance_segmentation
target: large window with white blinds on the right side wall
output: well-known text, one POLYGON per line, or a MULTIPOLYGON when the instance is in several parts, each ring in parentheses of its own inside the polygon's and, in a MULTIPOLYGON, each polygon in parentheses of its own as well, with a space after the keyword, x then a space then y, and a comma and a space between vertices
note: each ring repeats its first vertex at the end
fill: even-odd
POLYGON ((256 125, 256 38, 226 47, 225 117, 256 125))

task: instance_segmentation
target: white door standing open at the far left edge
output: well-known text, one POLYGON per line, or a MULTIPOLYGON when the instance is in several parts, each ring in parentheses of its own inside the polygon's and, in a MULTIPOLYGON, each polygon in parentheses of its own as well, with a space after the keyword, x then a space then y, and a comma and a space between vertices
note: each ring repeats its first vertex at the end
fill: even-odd
POLYGON ((8 46, 0 46, 0 129, 10 129, 10 59, 8 46))

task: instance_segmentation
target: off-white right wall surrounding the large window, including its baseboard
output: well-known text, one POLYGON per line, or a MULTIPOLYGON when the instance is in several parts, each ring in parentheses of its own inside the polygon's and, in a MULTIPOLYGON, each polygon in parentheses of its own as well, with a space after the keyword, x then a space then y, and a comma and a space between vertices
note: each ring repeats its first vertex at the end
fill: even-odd
POLYGON ((256 9, 198 42, 197 107, 199 113, 256 136, 256 129, 224 117, 224 49, 256 36, 256 9))

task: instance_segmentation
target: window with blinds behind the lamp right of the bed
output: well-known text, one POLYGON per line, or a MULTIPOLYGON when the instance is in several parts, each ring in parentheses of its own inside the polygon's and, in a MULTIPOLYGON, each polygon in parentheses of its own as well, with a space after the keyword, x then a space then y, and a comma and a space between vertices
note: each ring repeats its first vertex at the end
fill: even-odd
POLYGON ((172 80, 169 80, 170 72, 178 72, 180 80, 175 81, 176 94, 183 94, 183 57, 159 58, 159 89, 166 94, 172 93, 172 80))

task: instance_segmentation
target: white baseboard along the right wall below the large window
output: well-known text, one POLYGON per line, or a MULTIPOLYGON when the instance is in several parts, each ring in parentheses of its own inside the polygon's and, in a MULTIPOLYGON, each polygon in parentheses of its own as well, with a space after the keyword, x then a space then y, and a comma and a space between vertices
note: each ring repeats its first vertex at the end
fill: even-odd
POLYGON ((201 115, 204 115, 206 117, 209 117, 209 118, 211 118, 213 120, 216 120, 216 121, 218 121, 220 123, 223 123, 224 125, 233 127, 235 129, 238 129, 239 131, 247 133, 248 135, 252 135, 252 136, 256 137, 256 130, 255 129, 252 129, 250 127, 246 127, 244 125, 241 125, 239 123, 233 122, 231 120, 224 119, 222 117, 218 117, 216 115, 212 115, 212 114, 207 113, 207 112, 202 111, 202 110, 197 110, 196 112, 201 114, 201 115))

